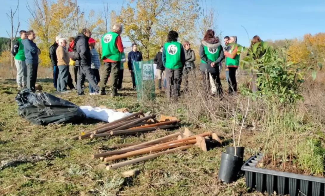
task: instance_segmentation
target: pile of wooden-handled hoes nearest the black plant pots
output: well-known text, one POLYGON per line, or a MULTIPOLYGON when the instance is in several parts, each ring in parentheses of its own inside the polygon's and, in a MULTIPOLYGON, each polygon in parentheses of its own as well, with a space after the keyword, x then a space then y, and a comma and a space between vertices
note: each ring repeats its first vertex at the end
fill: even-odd
POLYGON ((114 145, 111 146, 110 148, 113 149, 122 148, 122 149, 108 151, 101 154, 93 154, 92 158, 93 159, 99 158, 101 160, 104 160, 105 162, 108 162, 108 161, 119 160, 123 158, 160 151, 147 156, 134 158, 120 163, 108 165, 106 167, 107 170, 117 169, 126 165, 138 163, 151 158, 156 158, 159 157, 160 155, 169 154, 179 150, 185 150, 193 146, 198 146, 203 151, 207 151, 206 142, 215 142, 215 141, 221 144, 221 140, 219 139, 219 137, 212 131, 193 136, 192 133, 187 128, 185 128, 184 133, 177 132, 147 142, 114 145))

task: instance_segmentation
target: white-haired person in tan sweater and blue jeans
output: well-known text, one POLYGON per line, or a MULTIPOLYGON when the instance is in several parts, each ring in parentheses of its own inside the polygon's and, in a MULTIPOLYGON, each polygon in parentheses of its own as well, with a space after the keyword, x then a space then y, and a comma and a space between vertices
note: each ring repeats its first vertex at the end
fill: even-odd
POLYGON ((59 76, 57 82, 57 91, 65 92, 67 91, 68 78, 69 78, 69 55, 67 51, 67 40, 65 38, 60 38, 58 40, 59 46, 56 50, 56 56, 58 59, 58 69, 59 76))

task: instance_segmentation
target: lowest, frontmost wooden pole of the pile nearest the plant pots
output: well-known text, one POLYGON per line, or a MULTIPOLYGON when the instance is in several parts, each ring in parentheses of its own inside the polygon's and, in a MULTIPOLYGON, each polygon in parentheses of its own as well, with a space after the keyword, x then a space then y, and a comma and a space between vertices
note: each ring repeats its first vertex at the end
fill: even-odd
POLYGON ((131 165, 131 164, 138 163, 138 162, 141 162, 141 161, 145 161, 145 160, 148 160, 148 159, 151 159, 151 158, 156 158, 156 157, 159 157, 161 155, 173 153, 173 152, 176 152, 178 150, 185 150, 185 149, 188 149, 190 147, 193 147, 193 144, 173 148, 173 149, 162 151, 162 152, 158 152, 158 153, 155 153, 155 154, 152 154, 152 155, 147 155, 147 156, 143 156, 143 157, 139 157, 139 158, 134 158, 134 159, 123 161, 123 162, 116 163, 116 164, 112 164, 112 165, 107 166, 106 169, 107 170, 117 169, 117 168, 120 168, 120 167, 123 167, 123 166, 126 166, 126 165, 131 165))

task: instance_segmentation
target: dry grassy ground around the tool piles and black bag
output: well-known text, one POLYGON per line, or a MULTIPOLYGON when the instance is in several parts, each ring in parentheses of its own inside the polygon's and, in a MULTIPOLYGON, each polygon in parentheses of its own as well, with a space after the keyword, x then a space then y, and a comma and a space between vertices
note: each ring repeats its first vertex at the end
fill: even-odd
MULTIPOLYGON (((136 101, 136 92, 127 90, 131 87, 128 75, 125 73, 123 88, 126 90, 120 92, 122 97, 90 96, 88 90, 85 96, 77 96, 72 92, 60 97, 77 105, 128 108, 131 112, 142 109, 144 112, 156 113, 157 116, 173 115, 181 119, 182 126, 179 130, 183 131, 184 126, 189 127, 195 134, 213 130, 226 145, 232 145, 233 108, 237 104, 236 97, 228 97, 226 93, 225 99, 221 102, 214 100, 215 103, 211 103, 210 100, 210 103, 209 101, 202 103, 200 94, 190 92, 183 95, 178 103, 169 103, 164 99, 163 93, 157 91, 155 102, 141 103, 136 101), (208 111, 209 108, 211 111, 208 111)), ((200 83, 200 81, 192 82, 200 83)), ((224 90, 227 91, 225 80, 222 82, 224 90)), ((46 92, 55 91, 52 79, 39 79, 37 83, 40 83, 46 92)), ((91 159, 91 154, 98 153, 112 144, 148 141, 179 130, 158 130, 125 138, 73 141, 69 139, 71 136, 102 123, 87 120, 79 125, 32 125, 17 114, 14 99, 16 87, 14 80, 0 81, 1 165, 6 161, 18 160, 0 168, 0 195, 262 195, 247 191, 244 177, 228 185, 217 180, 220 156, 225 147, 207 152, 191 148, 107 171, 103 162, 91 159), (123 178, 121 173, 130 169, 140 169, 141 172, 136 177, 123 178)), ((195 84, 191 87, 199 88, 195 84)), ((243 100, 240 104, 240 111, 245 110, 245 102, 243 100)), ((238 122, 241 121, 242 114, 244 113, 240 112, 238 115, 238 122)), ((249 121, 245 124, 241 136, 241 146, 246 147, 245 159, 263 150, 264 147, 261 138, 265 135, 260 133, 262 128, 255 127, 257 122, 254 121, 254 114, 249 113, 249 121)), ((312 131, 313 127, 318 125, 318 122, 312 125, 309 123, 308 127, 311 127, 309 130, 312 131)), ((235 129, 240 129, 240 123, 236 123, 235 129)))

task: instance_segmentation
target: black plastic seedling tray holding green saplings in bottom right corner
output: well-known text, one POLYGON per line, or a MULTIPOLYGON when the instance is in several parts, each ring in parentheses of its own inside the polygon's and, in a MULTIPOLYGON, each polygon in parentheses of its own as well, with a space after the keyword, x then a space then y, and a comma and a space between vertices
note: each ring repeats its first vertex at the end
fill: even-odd
POLYGON ((325 178, 255 167, 262 158, 263 153, 258 153, 241 167, 245 171, 247 188, 256 187, 256 191, 267 191, 268 195, 276 191, 281 195, 297 196, 300 191, 307 196, 325 196, 325 178))

